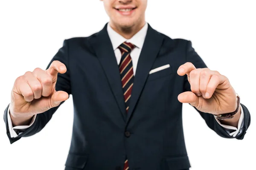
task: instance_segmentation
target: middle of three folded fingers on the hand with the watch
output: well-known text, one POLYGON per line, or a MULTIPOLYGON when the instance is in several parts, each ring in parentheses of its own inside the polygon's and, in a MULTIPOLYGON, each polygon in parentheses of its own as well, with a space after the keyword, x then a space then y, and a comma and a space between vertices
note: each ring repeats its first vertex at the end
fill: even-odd
POLYGON ((200 90, 200 93, 202 94, 202 96, 204 98, 205 97, 205 93, 206 93, 206 88, 207 88, 207 85, 212 77, 212 74, 214 74, 213 71, 210 71, 208 69, 204 69, 200 72, 200 85, 199 85, 199 90, 200 90))

